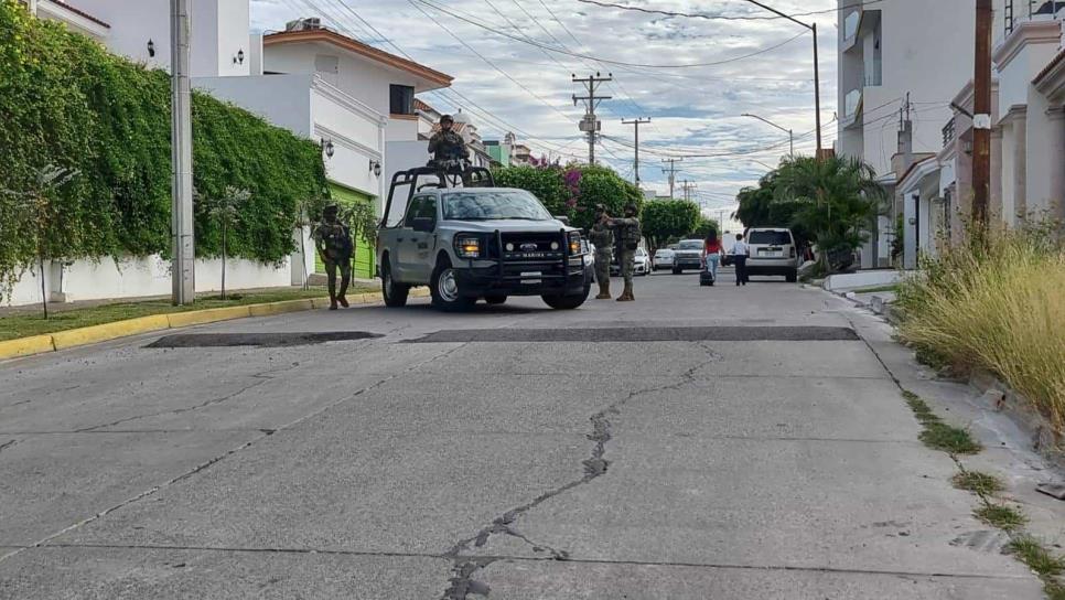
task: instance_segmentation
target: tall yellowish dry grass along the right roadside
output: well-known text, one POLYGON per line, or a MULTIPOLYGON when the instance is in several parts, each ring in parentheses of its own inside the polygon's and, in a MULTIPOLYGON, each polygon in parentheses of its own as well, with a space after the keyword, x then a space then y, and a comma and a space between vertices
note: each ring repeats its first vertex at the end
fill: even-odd
POLYGON ((900 287, 904 340, 998 375, 1065 430, 1065 247, 1046 229, 988 235, 900 287))

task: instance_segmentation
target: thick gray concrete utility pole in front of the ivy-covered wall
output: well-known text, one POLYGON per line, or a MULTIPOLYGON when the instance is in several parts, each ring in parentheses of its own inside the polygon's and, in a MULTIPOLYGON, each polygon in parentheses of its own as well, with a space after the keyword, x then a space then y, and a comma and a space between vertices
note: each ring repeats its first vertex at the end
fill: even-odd
POLYGON ((174 306, 196 299, 192 213, 192 90, 189 83, 189 0, 170 0, 171 41, 171 267, 174 306))

